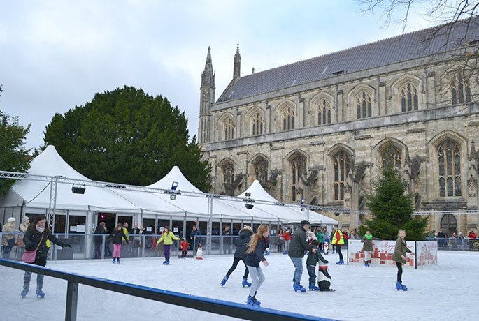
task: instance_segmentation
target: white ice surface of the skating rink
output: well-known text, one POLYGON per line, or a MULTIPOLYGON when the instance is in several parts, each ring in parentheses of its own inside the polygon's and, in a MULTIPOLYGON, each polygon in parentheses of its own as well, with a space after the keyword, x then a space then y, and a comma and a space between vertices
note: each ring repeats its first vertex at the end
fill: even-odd
MULTIPOLYGON (((296 293, 292 289, 294 268, 289 257, 270 255, 269 267, 262 266, 266 281, 257 294, 262 306, 340 320, 477 320, 474 295, 479 287, 479 253, 440 251, 437 266, 404 269, 403 283, 408 292, 396 291, 395 267, 337 266, 337 255, 330 253, 325 257, 330 261, 331 288, 336 292, 296 293)), ((242 262, 226 286, 220 286, 233 261, 232 255, 204 260, 172 258, 169 266, 162 265, 162 261, 124 259, 121 264, 113 264, 110 260, 82 260, 48 262, 47 267, 238 303, 245 303, 248 297, 249 288, 241 287, 242 262)), ((45 299, 37 299, 33 274, 31 290, 22 299, 23 273, 0 267, 0 320, 64 320, 66 281, 45 277, 45 299)), ((306 268, 301 284, 308 284, 306 268)), ((229 320, 221 315, 79 285, 78 320, 162 318, 229 320)))

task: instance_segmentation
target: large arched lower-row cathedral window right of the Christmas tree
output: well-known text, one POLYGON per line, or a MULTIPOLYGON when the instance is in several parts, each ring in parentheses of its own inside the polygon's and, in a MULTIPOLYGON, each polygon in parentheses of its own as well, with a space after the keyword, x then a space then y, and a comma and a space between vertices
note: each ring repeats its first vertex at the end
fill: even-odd
POLYGON ((440 144, 438 147, 438 165, 439 196, 461 196, 461 151, 459 144, 452 140, 445 140, 440 144))

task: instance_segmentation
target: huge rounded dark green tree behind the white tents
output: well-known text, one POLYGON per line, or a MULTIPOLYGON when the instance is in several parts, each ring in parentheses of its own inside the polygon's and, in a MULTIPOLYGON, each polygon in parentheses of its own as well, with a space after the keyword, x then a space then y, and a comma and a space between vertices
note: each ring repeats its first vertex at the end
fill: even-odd
POLYGON ((44 140, 90 179, 145 186, 178 165, 202 191, 210 187, 210 165, 201 160, 196 135, 190 140, 185 113, 142 89, 106 91, 55 114, 44 140))

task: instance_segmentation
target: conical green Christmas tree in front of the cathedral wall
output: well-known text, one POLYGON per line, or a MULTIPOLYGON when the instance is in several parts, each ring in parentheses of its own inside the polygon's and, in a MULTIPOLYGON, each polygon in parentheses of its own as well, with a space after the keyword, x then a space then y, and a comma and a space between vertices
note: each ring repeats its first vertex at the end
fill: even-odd
POLYGON ((373 181, 375 193, 366 196, 366 205, 373 218, 366 220, 366 226, 360 227, 364 234, 370 230, 375 237, 396 239, 400 229, 407 232, 406 239, 423 239, 427 218, 413 217, 413 199, 407 195, 407 184, 399 176, 394 165, 381 168, 380 177, 373 181))

